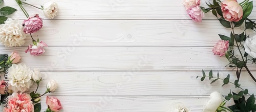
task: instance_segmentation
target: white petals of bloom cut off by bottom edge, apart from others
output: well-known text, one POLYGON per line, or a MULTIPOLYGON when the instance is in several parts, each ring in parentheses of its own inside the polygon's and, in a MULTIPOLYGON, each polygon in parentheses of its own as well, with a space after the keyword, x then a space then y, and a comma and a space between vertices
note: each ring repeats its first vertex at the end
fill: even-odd
POLYGON ((184 104, 176 102, 170 106, 168 112, 190 112, 190 110, 184 104))

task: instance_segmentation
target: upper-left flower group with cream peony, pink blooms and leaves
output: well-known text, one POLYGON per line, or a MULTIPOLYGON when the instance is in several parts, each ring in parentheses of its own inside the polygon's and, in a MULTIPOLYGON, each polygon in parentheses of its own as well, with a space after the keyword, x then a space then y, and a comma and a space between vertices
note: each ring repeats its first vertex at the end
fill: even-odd
MULTIPOLYGON (((3 45, 6 47, 16 47, 16 46, 22 46, 25 43, 25 39, 27 38, 27 34, 30 34, 32 38, 32 43, 28 47, 28 49, 25 51, 30 52, 30 55, 38 56, 45 52, 44 47, 48 47, 48 45, 44 41, 39 41, 39 38, 35 40, 32 37, 32 33, 35 33, 39 31, 42 26, 42 18, 39 17, 38 14, 31 14, 25 10, 23 5, 29 5, 34 8, 40 9, 44 12, 44 15, 47 18, 54 18, 58 14, 58 5, 54 2, 48 2, 41 6, 41 8, 36 7, 34 5, 28 4, 26 2, 20 1, 20 0, 14 0, 16 1, 17 5, 20 7, 20 9, 24 12, 27 19, 23 21, 23 23, 20 23, 19 19, 12 19, 6 17, 7 15, 13 14, 17 9, 14 9, 12 7, 2 7, 0 9, 0 41, 3 45)), ((3 4, 3 0, 1 0, 0 5, 3 4)))

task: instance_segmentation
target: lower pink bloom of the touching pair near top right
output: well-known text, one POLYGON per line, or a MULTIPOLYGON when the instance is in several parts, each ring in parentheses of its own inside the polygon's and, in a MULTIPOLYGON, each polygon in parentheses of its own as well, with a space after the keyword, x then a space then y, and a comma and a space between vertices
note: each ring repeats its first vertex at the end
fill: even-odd
POLYGON ((202 22, 204 13, 199 6, 190 7, 187 10, 187 14, 196 22, 202 22))

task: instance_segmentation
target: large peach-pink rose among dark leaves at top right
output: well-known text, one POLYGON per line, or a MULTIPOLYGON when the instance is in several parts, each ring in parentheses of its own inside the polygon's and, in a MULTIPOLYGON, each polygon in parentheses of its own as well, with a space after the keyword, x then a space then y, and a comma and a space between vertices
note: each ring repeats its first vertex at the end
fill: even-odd
POLYGON ((236 0, 225 0, 221 3, 223 17, 227 21, 239 21, 243 17, 243 9, 236 0))

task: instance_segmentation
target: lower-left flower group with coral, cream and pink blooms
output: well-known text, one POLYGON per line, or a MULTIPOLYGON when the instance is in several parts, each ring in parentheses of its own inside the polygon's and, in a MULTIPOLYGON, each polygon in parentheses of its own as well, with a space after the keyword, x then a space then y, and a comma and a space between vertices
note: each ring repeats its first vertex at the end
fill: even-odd
MULTIPOLYGON (((27 111, 39 112, 41 110, 41 96, 56 91, 58 84, 55 80, 50 80, 46 85, 44 94, 37 93, 38 86, 42 79, 39 69, 32 71, 25 63, 19 63, 21 57, 17 52, 12 52, 10 56, 0 55, 0 73, 4 73, 5 79, 0 82, 1 103, 4 104, 3 111, 27 111), (37 85, 35 91, 31 91, 33 84, 37 85)), ((0 105, 1 105, 0 103, 0 105)), ((62 109, 61 103, 57 98, 46 98, 48 108, 46 112, 57 112, 62 109)))

